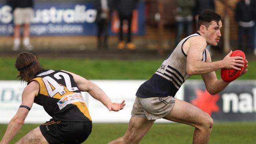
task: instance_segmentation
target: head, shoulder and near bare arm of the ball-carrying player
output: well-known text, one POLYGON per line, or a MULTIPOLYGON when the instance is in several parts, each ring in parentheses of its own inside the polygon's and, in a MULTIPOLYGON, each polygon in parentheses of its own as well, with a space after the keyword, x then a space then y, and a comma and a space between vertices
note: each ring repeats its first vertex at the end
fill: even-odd
MULTIPOLYGON (((202 53, 204 52, 206 46, 211 44, 217 46, 219 39, 221 37, 221 20, 219 22, 211 21, 208 28, 201 25, 198 29, 200 36, 191 37, 185 42, 184 51, 187 54, 187 73, 191 75, 195 74, 206 74, 213 72, 221 68, 235 69, 240 70, 236 66, 243 66, 241 63, 244 63, 241 57, 230 57, 232 52, 230 52, 222 61, 215 62, 203 62, 202 53)), ((206 55, 207 57, 208 55, 206 55)))

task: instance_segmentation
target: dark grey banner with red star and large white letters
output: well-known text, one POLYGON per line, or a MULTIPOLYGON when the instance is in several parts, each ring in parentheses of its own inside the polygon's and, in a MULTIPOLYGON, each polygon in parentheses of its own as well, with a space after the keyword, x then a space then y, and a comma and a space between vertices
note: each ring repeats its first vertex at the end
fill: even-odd
POLYGON ((196 105, 215 121, 256 121, 256 81, 233 81, 212 96, 203 81, 186 81, 184 100, 196 105))

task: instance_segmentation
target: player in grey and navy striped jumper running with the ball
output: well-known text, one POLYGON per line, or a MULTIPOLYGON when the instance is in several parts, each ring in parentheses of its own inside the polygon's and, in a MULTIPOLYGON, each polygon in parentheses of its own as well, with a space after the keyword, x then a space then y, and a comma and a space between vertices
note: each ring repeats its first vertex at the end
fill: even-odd
MULTIPOLYGON (((215 70, 240 70, 236 66, 243 66, 242 57, 230 57, 232 51, 223 60, 211 62, 206 46, 217 46, 221 28, 221 16, 214 11, 206 10, 199 15, 197 33, 180 41, 153 76, 139 87, 125 135, 109 144, 138 144, 160 118, 195 127, 193 144, 208 143, 213 126, 211 116, 174 96, 189 76, 198 74, 202 75, 208 92, 217 94, 229 83, 218 80, 215 70)), ((242 74, 247 72, 247 66, 242 74)), ((169 137, 171 141, 172 136, 169 137)))

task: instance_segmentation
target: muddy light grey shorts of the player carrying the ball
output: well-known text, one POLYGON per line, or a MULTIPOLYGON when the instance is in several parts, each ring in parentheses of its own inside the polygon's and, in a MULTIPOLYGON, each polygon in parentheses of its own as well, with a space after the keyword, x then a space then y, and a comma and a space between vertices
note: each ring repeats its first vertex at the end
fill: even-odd
POLYGON ((148 120, 157 120, 167 116, 175 104, 175 98, 152 97, 152 98, 135 98, 132 107, 132 116, 147 118, 148 120))

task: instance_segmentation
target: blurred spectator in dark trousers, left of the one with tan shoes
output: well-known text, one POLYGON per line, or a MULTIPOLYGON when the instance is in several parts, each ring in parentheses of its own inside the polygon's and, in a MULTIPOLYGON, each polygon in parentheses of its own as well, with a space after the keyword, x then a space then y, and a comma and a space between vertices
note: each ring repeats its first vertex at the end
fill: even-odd
POLYGON ((98 49, 108 48, 108 26, 111 17, 112 1, 113 0, 95 0, 95 9, 97 10, 98 49))

